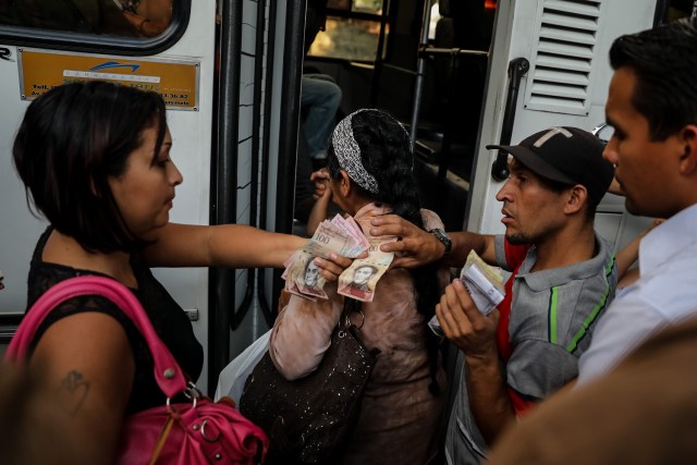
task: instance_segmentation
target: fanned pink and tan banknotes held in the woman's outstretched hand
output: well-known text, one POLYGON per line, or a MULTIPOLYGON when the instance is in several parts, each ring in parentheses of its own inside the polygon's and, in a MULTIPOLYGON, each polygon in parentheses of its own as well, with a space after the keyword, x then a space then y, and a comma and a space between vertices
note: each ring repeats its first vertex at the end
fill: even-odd
MULTIPOLYGON (((366 228, 367 230, 367 228, 366 228)), ((328 259, 330 254, 358 258, 339 277, 339 294, 362 302, 372 302, 375 289, 380 277, 390 267, 394 254, 383 253, 380 245, 395 241, 396 237, 371 237, 364 235, 360 227, 351 218, 337 215, 322 221, 305 246, 285 261, 285 290, 304 298, 328 298, 325 292, 326 280, 319 273, 315 257, 328 259)))

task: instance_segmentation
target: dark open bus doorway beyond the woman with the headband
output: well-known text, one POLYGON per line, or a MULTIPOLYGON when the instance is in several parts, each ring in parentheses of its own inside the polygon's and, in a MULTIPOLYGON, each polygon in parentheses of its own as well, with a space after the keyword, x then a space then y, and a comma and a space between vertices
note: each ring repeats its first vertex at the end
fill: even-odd
POLYGON ((304 71, 337 82, 343 95, 338 120, 358 108, 379 108, 402 121, 412 136, 424 206, 448 229, 462 228, 497 3, 322 3, 325 30, 313 41, 304 71))

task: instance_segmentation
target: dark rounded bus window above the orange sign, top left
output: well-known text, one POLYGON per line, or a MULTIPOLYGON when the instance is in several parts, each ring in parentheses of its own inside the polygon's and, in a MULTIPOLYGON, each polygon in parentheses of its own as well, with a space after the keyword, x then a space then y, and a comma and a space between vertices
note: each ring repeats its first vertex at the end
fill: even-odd
POLYGON ((5 44, 147 54, 171 46, 191 0, 0 0, 5 44))

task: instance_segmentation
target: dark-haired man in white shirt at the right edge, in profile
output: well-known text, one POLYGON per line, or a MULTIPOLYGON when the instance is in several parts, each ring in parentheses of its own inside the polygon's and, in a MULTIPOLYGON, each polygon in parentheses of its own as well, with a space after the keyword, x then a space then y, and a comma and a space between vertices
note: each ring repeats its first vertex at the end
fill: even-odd
POLYGON ((640 279, 619 293, 580 357, 578 382, 608 372, 647 336, 697 316, 697 23, 619 38, 604 158, 631 213, 667 218, 641 241, 640 279))

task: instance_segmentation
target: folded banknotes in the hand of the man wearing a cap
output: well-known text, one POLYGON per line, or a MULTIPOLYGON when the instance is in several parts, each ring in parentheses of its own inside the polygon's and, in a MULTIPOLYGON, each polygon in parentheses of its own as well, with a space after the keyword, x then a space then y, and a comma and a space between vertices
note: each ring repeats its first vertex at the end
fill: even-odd
MULTIPOLYGON (((499 269, 487 265, 474 250, 467 255, 460 279, 482 315, 489 315, 505 296, 503 277, 499 269)), ((430 319, 428 326, 436 334, 443 335, 436 316, 430 319)))

